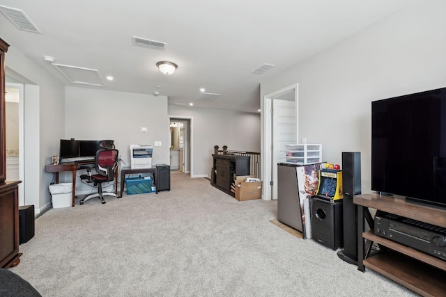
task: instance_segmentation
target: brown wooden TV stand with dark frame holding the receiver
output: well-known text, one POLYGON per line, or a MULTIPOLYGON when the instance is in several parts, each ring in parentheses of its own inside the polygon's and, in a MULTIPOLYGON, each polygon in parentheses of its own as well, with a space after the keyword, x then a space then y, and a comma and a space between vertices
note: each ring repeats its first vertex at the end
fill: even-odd
POLYGON ((446 210, 409 203, 401 197, 378 194, 355 195, 353 203, 358 205, 358 270, 370 268, 423 296, 446 296, 446 261, 375 235, 374 221, 368 208, 440 227, 446 227, 446 210), (364 232, 364 218, 369 223, 370 231, 364 232), (369 257, 373 242, 388 250, 369 257))

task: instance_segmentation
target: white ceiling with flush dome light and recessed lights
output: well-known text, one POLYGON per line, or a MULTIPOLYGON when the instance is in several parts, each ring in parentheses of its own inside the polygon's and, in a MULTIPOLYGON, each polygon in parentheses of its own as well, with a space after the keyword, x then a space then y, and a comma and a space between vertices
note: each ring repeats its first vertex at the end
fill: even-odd
MULTIPOLYGON (((259 84, 394 13, 408 0, 0 0, 42 32, 0 14, 0 36, 66 86, 169 97, 169 105, 256 112, 259 84), (134 46, 132 36, 167 43, 134 46), (70 83, 43 60, 98 70, 104 86, 70 83), (171 61, 174 74, 155 64, 171 61), (275 65, 252 74, 263 63, 275 65), (114 81, 105 77, 111 75, 114 81), (199 88, 221 94, 199 101, 199 88)), ((7 59, 7 56, 6 56, 7 59)), ((8 60, 6 60, 8 65, 8 60)), ((125 98, 123 98, 125 99, 125 98)))

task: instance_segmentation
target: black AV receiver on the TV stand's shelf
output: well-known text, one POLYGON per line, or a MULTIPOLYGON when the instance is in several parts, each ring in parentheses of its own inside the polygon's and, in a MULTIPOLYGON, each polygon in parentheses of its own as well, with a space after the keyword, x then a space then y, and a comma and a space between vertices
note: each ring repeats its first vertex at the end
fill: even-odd
POLYGON ((374 231, 378 236, 446 260, 446 228, 377 211, 374 231))

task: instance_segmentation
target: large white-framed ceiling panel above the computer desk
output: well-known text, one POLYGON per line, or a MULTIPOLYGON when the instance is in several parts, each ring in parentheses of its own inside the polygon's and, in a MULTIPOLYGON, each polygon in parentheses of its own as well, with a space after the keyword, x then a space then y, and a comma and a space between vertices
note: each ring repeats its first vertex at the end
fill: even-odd
POLYGON ((68 79, 70 83, 80 83, 89 86, 104 86, 104 81, 102 81, 102 77, 98 70, 55 63, 52 65, 56 67, 56 69, 61 72, 63 77, 68 79))

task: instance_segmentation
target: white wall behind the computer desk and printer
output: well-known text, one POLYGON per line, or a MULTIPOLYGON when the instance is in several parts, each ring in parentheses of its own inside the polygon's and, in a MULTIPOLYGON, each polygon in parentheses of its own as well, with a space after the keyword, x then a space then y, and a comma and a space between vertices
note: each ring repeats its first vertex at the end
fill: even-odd
MULTIPOLYGON (((167 97, 66 87, 64 138, 114 140, 121 166, 130 166, 130 144, 154 145, 152 164, 169 163, 167 97), (148 132, 141 132, 147 127, 148 132)), ((58 140, 59 141, 59 140, 58 140)), ((78 175, 85 172, 78 172, 78 175)), ((70 174, 64 179, 70 182, 70 174)), ((82 184, 77 183, 82 191, 82 184)))

